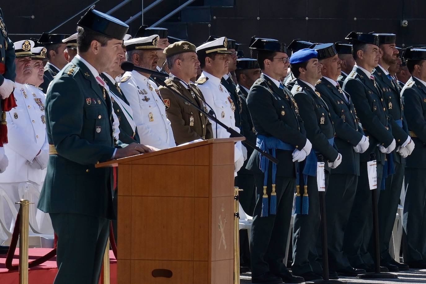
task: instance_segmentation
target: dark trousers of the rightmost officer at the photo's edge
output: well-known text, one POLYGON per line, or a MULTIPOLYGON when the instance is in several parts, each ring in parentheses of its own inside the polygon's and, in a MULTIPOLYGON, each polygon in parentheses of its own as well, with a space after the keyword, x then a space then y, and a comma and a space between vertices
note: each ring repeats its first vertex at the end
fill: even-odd
POLYGON ((405 169, 404 262, 426 261, 426 169, 405 169))

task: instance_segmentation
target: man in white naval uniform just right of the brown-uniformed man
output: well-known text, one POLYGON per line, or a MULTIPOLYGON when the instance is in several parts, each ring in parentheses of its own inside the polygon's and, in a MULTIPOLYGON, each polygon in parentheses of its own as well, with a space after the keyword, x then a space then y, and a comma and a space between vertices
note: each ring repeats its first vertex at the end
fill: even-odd
MULTIPOLYGON (((233 100, 225 86, 220 83, 223 75, 227 74, 229 65, 227 54, 230 52, 227 51, 226 37, 203 43, 197 47, 196 51, 203 72, 195 83, 204 95, 207 108, 213 109, 216 118, 221 122, 232 127, 236 132, 240 132, 239 128, 235 126, 234 112, 236 108, 233 100)), ((214 138, 230 137, 230 133, 225 128, 217 125, 214 121, 211 121, 211 123, 214 138)), ((247 149, 239 141, 235 144, 234 150, 234 176, 236 176, 236 172, 242 167, 246 158, 247 149)))

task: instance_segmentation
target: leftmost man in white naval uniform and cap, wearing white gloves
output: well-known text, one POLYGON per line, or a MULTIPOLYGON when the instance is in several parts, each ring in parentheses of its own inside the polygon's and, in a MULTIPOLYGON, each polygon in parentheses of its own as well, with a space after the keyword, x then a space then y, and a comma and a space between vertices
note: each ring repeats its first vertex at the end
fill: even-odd
MULTIPOLYGON (((40 191, 46 175, 49 159, 49 143, 44 115, 45 94, 26 84, 31 77, 32 40, 14 43, 16 64, 16 88, 14 97, 17 107, 7 113, 8 139, 4 148, 9 166, 0 175, 0 186, 12 202, 19 201, 18 185, 29 182, 40 191)), ((9 210, 5 211, 6 224, 12 221, 9 210)))

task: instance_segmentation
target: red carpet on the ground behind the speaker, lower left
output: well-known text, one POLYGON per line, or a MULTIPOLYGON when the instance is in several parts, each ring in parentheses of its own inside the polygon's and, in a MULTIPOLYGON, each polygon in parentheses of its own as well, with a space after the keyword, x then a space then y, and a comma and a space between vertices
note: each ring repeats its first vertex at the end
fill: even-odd
MULTIPOLYGON (((45 255, 52 249, 29 249, 29 261, 45 255)), ((19 284, 19 273, 17 270, 9 271, 5 267, 6 254, 0 255, 0 283, 1 284, 19 284)), ((19 263, 19 249, 16 249, 15 256, 12 261, 13 264, 19 263)), ((110 283, 117 283, 117 260, 112 253, 109 251, 109 269, 110 269, 110 283)), ((58 271, 56 266, 56 258, 52 258, 46 261, 42 265, 30 268, 28 273, 28 281, 31 284, 52 284, 55 279, 55 275, 58 271)))

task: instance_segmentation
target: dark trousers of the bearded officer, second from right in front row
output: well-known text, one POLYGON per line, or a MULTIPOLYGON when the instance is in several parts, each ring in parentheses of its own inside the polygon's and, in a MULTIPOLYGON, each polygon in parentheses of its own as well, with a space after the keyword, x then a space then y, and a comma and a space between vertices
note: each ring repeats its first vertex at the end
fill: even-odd
MULTIPOLYGON (((402 183, 404 181, 405 164, 394 162, 395 173, 386 178, 385 190, 380 192, 379 204, 379 247, 380 257, 389 261, 389 241, 395 223, 395 217, 400 201, 402 183)), ((374 240, 371 238, 370 254, 374 252, 374 240)), ((398 259, 399 261, 399 259, 398 259)))

